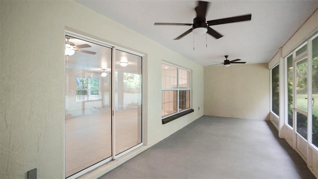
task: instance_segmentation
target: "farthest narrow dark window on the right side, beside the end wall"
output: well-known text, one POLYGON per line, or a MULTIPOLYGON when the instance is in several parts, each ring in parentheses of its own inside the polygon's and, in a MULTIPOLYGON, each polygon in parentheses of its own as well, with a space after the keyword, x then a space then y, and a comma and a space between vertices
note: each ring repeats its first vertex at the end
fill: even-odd
POLYGON ((279 65, 271 69, 272 112, 279 116, 279 65))

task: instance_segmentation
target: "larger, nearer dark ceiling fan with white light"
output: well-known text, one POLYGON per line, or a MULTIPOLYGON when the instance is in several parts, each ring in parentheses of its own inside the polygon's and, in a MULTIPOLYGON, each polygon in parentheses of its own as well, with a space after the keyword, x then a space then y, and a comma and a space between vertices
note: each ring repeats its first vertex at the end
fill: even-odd
POLYGON ((206 21, 206 12, 209 6, 209 2, 206 1, 198 1, 198 6, 194 8, 197 16, 193 19, 193 23, 165 23, 165 22, 156 22, 154 25, 186 25, 192 26, 189 30, 185 31, 183 34, 179 35, 173 40, 178 40, 185 35, 193 32, 195 34, 204 34, 208 33, 212 35, 214 38, 219 39, 223 37, 219 32, 212 29, 211 25, 219 25, 225 23, 232 23, 232 22, 240 22, 240 21, 247 21, 251 19, 252 14, 246 15, 239 15, 234 17, 222 18, 222 19, 215 19, 215 20, 208 20, 206 21))

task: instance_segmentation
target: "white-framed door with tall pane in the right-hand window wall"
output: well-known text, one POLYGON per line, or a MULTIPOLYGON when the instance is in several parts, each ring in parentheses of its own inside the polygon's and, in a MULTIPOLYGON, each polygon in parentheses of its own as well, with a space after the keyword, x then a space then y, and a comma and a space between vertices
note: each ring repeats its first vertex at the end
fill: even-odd
POLYGON ((296 121, 296 148, 307 156, 307 138, 308 138, 308 60, 307 57, 295 62, 295 82, 294 83, 294 117, 296 121))

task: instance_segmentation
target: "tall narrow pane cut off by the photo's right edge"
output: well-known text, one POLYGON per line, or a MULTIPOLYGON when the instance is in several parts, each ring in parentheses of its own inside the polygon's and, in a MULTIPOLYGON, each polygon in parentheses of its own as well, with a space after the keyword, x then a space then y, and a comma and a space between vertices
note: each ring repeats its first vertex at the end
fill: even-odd
POLYGON ((313 144, 318 147, 318 37, 313 39, 313 144))

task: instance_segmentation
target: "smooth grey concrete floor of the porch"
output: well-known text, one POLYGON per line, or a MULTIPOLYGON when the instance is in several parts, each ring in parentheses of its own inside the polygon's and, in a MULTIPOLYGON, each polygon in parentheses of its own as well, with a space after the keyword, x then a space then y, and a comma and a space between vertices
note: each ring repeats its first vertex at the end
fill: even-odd
POLYGON ((100 179, 315 179, 277 136, 269 121, 202 116, 100 179))

